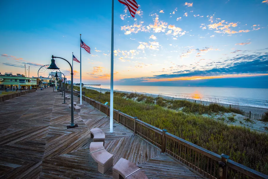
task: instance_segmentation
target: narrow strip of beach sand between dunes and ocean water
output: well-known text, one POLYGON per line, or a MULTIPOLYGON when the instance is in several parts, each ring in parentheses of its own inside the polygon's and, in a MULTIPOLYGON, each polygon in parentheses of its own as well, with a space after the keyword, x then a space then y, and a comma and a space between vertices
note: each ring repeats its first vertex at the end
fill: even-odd
MULTIPOLYGON (((105 89, 105 88, 95 88, 95 87, 89 87, 89 86, 83 86, 87 89, 92 89, 92 90, 96 90, 98 92, 102 92, 102 93, 105 93, 105 92, 110 92, 110 89, 105 89)), ((133 93, 133 92, 130 92, 130 91, 120 91, 120 90, 114 90, 115 92, 120 92, 120 93, 133 93)), ((201 103, 201 104, 205 104, 205 105, 209 105, 211 104, 211 102, 208 102, 208 101, 200 101, 200 100, 193 100, 193 99, 186 99, 186 98, 173 98, 173 97, 169 97, 169 96, 163 96, 163 95, 156 95, 156 94, 148 94, 148 93, 140 93, 140 92, 137 92, 138 94, 143 94, 143 95, 146 95, 146 96, 151 96, 153 98, 156 98, 156 97, 162 97, 162 98, 165 98, 165 99, 177 99, 177 100, 188 100, 188 101, 191 101, 191 102, 194 102, 196 101, 196 103, 201 103)), ((225 107, 229 107, 230 104, 225 104, 225 103, 218 103, 220 105, 223 105, 225 107)), ((232 107, 239 107, 240 109, 242 109, 243 111, 246 111, 246 112, 249 112, 251 111, 251 113, 257 113, 257 114, 263 114, 264 112, 267 112, 268 111, 268 108, 261 108, 261 107, 255 107, 255 106, 241 106, 241 105, 235 105, 235 104, 231 104, 232 107)))

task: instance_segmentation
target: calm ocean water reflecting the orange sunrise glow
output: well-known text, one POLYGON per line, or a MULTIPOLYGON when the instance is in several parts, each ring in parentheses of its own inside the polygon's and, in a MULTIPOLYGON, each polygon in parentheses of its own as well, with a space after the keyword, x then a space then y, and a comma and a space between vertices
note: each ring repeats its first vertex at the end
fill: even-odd
MULTIPOLYGON (((110 89, 109 85, 100 88, 110 89)), ((171 96, 268 109, 267 88, 222 88, 181 86, 114 86, 114 90, 171 96), (267 100, 267 101, 266 101, 267 100)))

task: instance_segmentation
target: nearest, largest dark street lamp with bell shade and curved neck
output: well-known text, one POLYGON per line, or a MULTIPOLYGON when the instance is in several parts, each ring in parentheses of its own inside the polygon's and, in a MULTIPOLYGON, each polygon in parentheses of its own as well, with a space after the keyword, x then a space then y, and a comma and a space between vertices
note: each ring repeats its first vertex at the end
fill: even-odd
MULTIPOLYGON (((54 58, 61 58, 61 57, 54 57, 52 55, 51 64, 48 67, 48 69, 59 70, 59 67, 57 67, 54 58)), ((61 59, 65 60, 64 58, 61 58, 61 59)), ((67 61, 67 60, 65 60, 65 61, 67 61)), ((74 124, 74 94, 73 94, 73 75, 74 75, 74 73, 72 71, 72 65, 70 64, 70 62, 68 62, 68 63, 70 65, 70 67, 71 67, 71 125, 67 126, 67 129, 70 129, 70 128, 78 127, 78 125, 74 124)))

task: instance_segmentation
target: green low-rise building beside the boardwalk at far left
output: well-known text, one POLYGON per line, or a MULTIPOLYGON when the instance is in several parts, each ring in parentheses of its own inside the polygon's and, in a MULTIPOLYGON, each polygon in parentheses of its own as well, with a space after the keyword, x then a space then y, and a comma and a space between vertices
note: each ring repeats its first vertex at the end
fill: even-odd
POLYGON ((12 73, 5 73, 0 75, 0 90, 12 89, 30 89, 38 86, 36 78, 28 78, 21 74, 12 75, 12 73))

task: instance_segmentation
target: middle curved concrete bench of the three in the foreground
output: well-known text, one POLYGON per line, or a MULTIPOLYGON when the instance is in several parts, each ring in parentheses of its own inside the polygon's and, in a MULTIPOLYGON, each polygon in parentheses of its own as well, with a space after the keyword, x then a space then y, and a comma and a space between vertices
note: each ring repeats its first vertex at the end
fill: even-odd
POLYGON ((98 163, 98 171, 104 174, 113 166, 113 155, 105 150, 102 142, 90 143, 90 155, 98 163))

